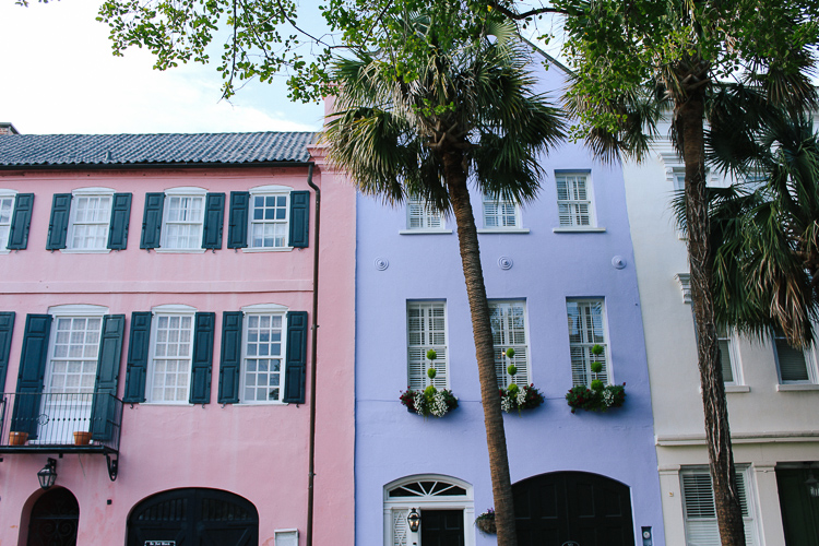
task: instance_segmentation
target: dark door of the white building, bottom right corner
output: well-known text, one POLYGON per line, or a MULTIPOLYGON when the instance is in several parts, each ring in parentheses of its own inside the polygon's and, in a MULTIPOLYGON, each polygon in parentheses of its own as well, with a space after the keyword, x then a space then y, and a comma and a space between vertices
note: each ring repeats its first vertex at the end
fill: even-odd
POLYGON ((803 468, 776 468, 787 546, 819 546, 819 498, 811 497, 806 485, 811 475, 803 468))

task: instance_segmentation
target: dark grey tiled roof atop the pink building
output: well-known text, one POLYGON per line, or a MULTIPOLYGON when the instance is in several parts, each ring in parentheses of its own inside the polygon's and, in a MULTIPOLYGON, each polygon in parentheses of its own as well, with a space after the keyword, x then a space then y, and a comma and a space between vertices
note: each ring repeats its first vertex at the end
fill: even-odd
POLYGON ((0 167, 307 162, 312 132, 0 135, 0 167))

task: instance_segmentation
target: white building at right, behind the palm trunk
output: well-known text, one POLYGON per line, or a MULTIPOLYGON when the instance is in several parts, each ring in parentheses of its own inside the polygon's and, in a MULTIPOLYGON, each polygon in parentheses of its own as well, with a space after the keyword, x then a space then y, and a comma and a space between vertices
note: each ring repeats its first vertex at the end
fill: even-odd
MULTIPOLYGON (((654 410, 668 546, 719 545, 708 472, 686 241, 670 199, 684 165, 670 143, 624 167, 654 410)), ((709 185, 728 183, 710 174, 709 185)), ((731 332, 720 339, 748 544, 819 544, 817 352, 731 332), (814 485, 814 494, 809 490, 814 485)))

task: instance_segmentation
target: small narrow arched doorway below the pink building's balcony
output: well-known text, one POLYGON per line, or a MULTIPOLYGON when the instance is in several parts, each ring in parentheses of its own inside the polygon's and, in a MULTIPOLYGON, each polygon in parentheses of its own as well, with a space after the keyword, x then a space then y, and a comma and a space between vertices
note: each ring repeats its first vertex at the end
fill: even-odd
POLYGON ((28 546, 75 546, 80 505, 63 487, 44 492, 32 507, 28 546))

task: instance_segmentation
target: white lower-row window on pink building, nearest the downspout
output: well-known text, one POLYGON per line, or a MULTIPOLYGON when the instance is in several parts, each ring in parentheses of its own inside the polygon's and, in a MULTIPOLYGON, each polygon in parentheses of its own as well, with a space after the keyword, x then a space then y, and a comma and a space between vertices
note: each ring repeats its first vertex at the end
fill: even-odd
POLYGON ((284 312, 245 314, 241 401, 280 402, 284 393, 284 312))

